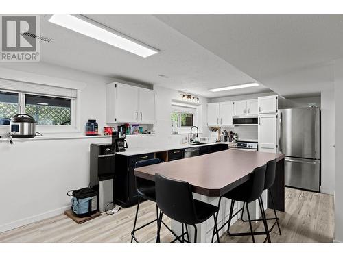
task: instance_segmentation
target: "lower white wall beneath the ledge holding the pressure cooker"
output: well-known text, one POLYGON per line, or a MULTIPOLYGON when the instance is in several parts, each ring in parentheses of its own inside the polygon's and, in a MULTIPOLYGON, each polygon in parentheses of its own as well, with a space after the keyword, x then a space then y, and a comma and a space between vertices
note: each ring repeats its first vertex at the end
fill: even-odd
POLYGON ((70 208, 67 191, 89 184, 89 145, 110 138, 0 142, 0 232, 70 208))

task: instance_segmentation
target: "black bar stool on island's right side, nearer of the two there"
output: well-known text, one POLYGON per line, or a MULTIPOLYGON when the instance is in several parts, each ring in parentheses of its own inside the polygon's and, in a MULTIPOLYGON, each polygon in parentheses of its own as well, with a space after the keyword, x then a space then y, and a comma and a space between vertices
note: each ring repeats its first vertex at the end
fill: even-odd
MULTIPOLYGON (((267 221, 265 220, 264 216, 264 211, 263 211, 263 206, 262 206, 262 198, 261 195, 263 193, 263 188, 264 188, 264 180, 265 180, 265 170, 267 168, 267 165, 263 165, 261 167, 257 167, 252 171, 252 176, 250 180, 245 182, 244 184, 241 184, 240 186, 237 186, 234 188, 232 191, 226 193, 223 195, 223 197, 227 199, 231 199, 231 206, 230 206, 230 215, 228 218, 228 221, 224 223, 218 230, 221 230, 224 228, 226 224, 228 224, 228 236, 251 236, 252 237, 252 242, 255 243, 255 237, 254 235, 261 235, 265 234, 267 237, 265 238, 265 241, 268 240, 270 242, 270 234, 267 226, 267 221), (250 219, 250 212, 248 208, 248 203, 258 200, 259 201, 259 208, 261 210, 262 214, 262 219, 263 219, 263 225, 265 228, 264 232, 254 232, 252 230, 252 220, 250 219), (246 211, 248 212, 248 221, 250 225, 250 232, 244 232, 244 233, 230 233, 230 225, 231 225, 231 219, 235 217, 239 212, 243 210, 241 208, 238 210, 234 215, 233 215, 233 208, 235 206, 235 201, 242 201, 244 205, 246 205, 246 211)), ((219 199, 218 207, 220 206, 220 201, 222 197, 219 199)), ((219 210, 218 210, 219 212, 219 210)), ((217 220, 218 213, 215 215, 215 220, 217 220)), ((212 235, 212 241, 213 241, 214 233, 212 235)))

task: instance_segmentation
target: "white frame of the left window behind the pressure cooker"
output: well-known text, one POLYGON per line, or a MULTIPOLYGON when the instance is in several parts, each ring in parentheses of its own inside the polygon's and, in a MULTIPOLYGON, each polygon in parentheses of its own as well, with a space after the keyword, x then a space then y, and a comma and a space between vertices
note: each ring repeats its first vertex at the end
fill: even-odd
MULTIPOLYGON (((43 134, 59 133, 80 133, 80 90, 76 90, 76 97, 63 97, 60 95, 47 95, 40 93, 31 93, 19 90, 1 89, 3 92, 18 94, 18 114, 25 113, 25 95, 41 95, 47 97, 60 97, 71 99, 71 125, 36 125, 36 131, 43 134)), ((0 125, 0 134, 8 134, 10 125, 0 125)))

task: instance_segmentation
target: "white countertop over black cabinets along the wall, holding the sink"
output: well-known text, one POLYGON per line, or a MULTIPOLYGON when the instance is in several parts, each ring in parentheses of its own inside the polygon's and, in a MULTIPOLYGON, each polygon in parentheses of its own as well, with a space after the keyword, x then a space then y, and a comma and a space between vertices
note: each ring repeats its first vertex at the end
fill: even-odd
POLYGON ((176 145, 161 145, 155 147, 132 147, 126 148, 126 151, 116 152, 116 154, 121 154, 123 156, 134 156, 137 154, 148 154, 148 153, 156 153, 158 151, 169 151, 175 149, 185 149, 190 147, 204 147, 206 145, 217 145, 217 144, 228 144, 228 142, 212 142, 212 143, 205 143, 201 145, 191 145, 187 144, 176 144, 176 145))

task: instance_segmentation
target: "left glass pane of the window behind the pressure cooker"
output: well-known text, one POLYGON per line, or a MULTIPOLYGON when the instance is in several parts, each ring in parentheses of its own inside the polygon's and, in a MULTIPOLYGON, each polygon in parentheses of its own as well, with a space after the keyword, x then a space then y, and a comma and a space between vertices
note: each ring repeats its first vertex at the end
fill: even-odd
POLYGON ((0 91, 0 125, 5 125, 12 116, 17 114, 18 93, 0 91))

